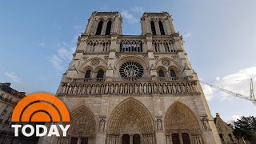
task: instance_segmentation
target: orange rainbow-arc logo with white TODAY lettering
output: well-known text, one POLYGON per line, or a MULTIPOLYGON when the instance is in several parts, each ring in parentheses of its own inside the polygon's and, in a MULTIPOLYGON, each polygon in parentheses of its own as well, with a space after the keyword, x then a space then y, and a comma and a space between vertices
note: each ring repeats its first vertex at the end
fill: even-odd
MULTIPOLYGON (((52 94, 34 93, 27 95, 18 102, 14 108, 11 118, 12 122, 70 122, 70 114, 65 104, 52 94)), ((36 134, 37 137, 60 136, 58 130, 62 130, 62 136, 66 137, 66 132, 70 125, 51 125, 50 130, 44 125, 34 126, 27 125, 11 125, 14 128, 14 136, 18 137, 18 130, 22 128, 22 134, 30 137, 36 134), (59 127, 59 129, 58 129, 59 127), (30 130, 27 132, 26 130, 30 130)))

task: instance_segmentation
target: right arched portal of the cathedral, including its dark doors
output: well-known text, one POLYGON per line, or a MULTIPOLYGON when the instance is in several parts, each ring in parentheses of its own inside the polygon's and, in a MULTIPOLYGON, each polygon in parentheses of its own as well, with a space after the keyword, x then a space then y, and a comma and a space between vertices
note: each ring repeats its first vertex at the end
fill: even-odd
POLYGON ((181 102, 175 102, 166 111, 165 130, 168 144, 202 144, 202 130, 198 120, 181 102))

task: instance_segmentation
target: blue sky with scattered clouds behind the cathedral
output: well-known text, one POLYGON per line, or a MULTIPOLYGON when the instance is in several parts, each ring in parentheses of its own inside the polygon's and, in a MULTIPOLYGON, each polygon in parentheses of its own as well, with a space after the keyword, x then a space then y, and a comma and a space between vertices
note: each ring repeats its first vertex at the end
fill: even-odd
MULTIPOLYGON (((26 94, 55 94, 92 12, 119 11, 122 33, 135 35, 144 12, 166 11, 200 80, 250 96, 250 78, 256 86, 255 7, 254 0, 1 1, 0 82, 26 94)), ((252 102, 202 87, 213 116, 226 122, 256 116, 252 102)))

